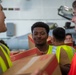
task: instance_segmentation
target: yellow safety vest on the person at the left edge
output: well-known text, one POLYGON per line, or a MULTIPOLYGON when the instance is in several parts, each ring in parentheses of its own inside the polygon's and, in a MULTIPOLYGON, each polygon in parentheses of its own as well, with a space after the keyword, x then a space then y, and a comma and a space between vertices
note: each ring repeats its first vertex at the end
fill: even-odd
MULTIPOLYGON (((2 50, 4 56, 6 57, 8 66, 11 67, 12 62, 11 62, 11 59, 10 59, 10 50, 9 50, 9 48, 7 48, 4 44, 0 44, 0 50, 2 50), (5 51, 5 49, 6 49, 7 52, 5 51)), ((3 72, 5 72, 8 69, 7 66, 6 66, 6 63, 4 62, 1 55, 0 55, 0 67, 1 67, 3 72)))

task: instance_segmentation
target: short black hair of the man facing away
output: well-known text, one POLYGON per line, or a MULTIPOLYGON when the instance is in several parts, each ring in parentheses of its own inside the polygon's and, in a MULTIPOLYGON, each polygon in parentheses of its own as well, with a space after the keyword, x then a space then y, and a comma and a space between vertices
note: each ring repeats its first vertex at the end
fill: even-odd
POLYGON ((53 30, 53 36, 58 41, 64 41, 65 40, 65 30, 62 27, 57 27, 53 30))

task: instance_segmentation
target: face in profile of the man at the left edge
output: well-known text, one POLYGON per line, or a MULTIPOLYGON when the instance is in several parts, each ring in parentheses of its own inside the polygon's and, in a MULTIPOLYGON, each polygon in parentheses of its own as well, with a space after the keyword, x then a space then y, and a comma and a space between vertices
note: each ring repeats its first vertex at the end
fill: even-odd
POLYGON ((0 33, 5 32, 7 30, 7 28, 5 26, 5 22, 4 22, 6 17, 2 10, 3 10, 3 8, 0 5, 0 33))

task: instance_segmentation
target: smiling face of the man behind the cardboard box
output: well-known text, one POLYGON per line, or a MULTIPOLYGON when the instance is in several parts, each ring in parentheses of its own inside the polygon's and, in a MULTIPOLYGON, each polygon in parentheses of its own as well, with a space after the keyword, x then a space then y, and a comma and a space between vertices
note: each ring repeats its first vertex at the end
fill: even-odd
POLYGON ((36 27, 33 30, 32 37, 34 39, 35 45, 42 46, 46 44, 48 34, 45 28, 36 27))

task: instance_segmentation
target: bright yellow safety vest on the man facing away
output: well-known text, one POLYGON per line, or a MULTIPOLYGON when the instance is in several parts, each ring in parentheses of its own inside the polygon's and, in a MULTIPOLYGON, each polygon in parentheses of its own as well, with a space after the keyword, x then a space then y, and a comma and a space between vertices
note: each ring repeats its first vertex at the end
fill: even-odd
MULTIPOLYGON (((52 48, 53 48, 53 46, 49 46, 49 50, 48 50, 47 54, 52 53, 52 48)), ((71 62, 73 55, 74 55, 73 48, 70 46, 67 46, 67 45, 61 45, 61 46, 57 46, 57 48, 56 48, 56 57, 57 57, 58 63, 60 63, 60 49, 61 48, 63 48, 66 51, 68 58, 71 62)))

